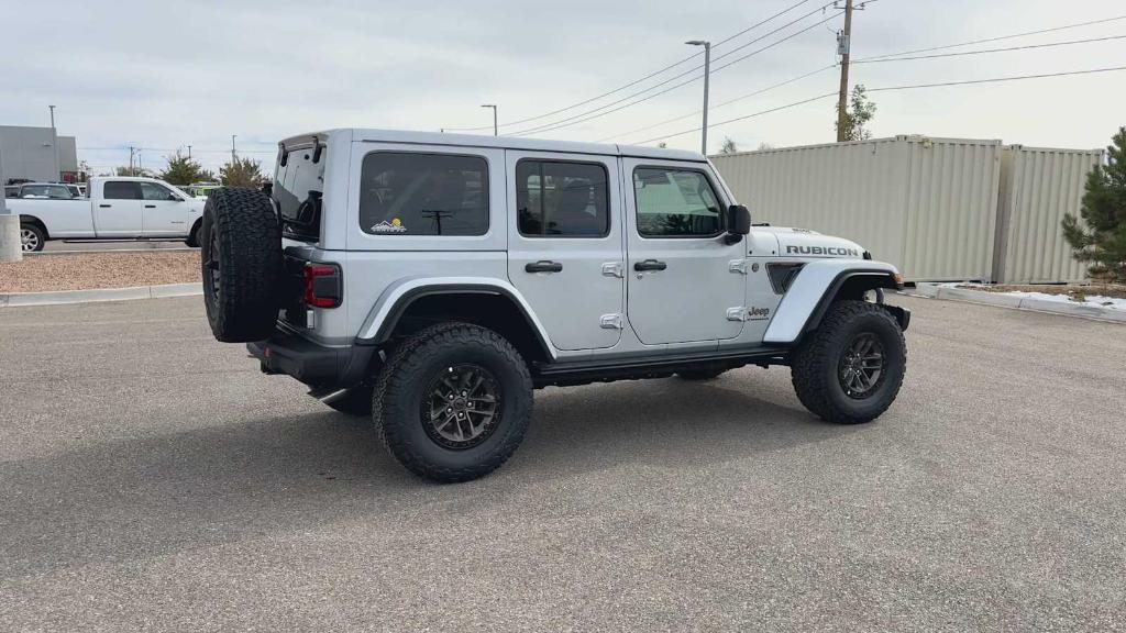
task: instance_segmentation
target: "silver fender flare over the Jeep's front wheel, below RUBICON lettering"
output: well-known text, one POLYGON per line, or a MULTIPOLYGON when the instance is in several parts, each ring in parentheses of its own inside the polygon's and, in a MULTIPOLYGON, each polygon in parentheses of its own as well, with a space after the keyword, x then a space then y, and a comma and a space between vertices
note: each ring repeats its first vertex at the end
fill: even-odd
MULTIPOLYGON (((806 264, 783 296, 774 319, 762 337, 763 344, 789 345, 815 329, 828 312, 837 293, 849 279, 870 278, 870 287, 897 289, 899 271, 891 264, 870 260, 825 259, 806 264)), ((901 327, 906 319, 896 316, 901 327)))

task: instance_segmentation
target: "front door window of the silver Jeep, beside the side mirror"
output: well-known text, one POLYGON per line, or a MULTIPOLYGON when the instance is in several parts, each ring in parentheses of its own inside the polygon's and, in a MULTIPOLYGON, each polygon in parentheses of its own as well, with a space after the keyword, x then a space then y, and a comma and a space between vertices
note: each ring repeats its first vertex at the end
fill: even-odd
POLYGON ((637 232, 646 238, 701 238, 723 231, 720 198, 699 171, 638 167, 634 196, 637 232))

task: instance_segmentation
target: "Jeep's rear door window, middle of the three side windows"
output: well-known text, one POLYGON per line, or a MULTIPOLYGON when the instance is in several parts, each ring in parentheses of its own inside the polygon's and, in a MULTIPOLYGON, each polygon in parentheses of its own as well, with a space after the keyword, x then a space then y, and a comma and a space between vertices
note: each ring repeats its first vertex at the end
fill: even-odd
POLYGON ((609 233, 606 167, 521 160, 516 166, 520 234, 600 238, 609 233))

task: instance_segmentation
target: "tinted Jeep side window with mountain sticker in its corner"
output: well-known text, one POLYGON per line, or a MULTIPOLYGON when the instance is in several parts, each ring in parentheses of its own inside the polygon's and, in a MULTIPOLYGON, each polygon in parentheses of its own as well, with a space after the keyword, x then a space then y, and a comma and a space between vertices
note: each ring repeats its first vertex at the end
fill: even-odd
POLYGON ((489 163, 470 155, 369 153, 360 170, 359 224, 373 235, 484 235, 489 163))

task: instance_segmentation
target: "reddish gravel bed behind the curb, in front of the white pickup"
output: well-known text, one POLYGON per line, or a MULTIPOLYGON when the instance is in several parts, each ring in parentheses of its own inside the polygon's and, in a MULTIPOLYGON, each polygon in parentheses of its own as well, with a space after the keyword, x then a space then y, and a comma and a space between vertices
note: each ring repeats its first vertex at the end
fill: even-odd
POLYGON ((0 264, 0 293, 125 288, 198 280, 198 250, 37 255, 0 264))

